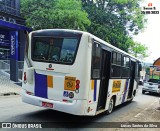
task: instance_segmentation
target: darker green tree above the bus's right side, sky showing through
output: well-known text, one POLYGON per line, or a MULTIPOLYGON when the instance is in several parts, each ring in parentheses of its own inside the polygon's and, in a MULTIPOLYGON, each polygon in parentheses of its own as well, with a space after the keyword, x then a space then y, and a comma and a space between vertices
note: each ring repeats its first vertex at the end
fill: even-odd
POLYGON ((144 28, 139 2, 141 0, 82 0, 92 21, 87 30, 128 52, 131 46, 128 41, 144 28))

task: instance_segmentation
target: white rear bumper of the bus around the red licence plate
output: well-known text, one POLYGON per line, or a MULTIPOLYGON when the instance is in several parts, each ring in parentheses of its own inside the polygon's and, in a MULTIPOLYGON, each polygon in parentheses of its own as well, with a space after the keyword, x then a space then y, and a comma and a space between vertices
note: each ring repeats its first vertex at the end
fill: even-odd
POLYGON ((22 89, 21 96, 22 96, 23 102, 31 105, 43 107, 42 102, 52 103, 53 104, 52 108, 50 107, 46 107, 46 108, 61 111, 61 112, 66 112, 74 115, 85 115, 85 109, 87 105, 86 100, 73 100, 72 103, 63 102, 63 101, 54 101, 54 100, 33 96, 33 95, 28 95, 26 93, 26 90, 24 89, 22 89))

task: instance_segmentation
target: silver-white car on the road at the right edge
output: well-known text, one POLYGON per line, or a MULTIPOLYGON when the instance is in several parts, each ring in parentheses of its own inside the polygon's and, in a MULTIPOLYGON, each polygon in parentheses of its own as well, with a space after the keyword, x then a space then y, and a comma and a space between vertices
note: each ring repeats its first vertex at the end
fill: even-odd
POLYGON ((148 82, 144 82, 142 87, 142 94, 145 92, 160 94, 160 80, 149 79, 148 82))

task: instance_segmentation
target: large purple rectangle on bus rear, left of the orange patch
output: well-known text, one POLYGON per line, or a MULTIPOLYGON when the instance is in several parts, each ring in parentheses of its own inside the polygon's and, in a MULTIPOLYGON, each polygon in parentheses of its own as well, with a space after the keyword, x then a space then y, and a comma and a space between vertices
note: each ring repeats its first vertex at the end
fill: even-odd
POLYGON ((37 74, 35 72, 35 96, 48 98, 47 97, 47 76, 37 74))

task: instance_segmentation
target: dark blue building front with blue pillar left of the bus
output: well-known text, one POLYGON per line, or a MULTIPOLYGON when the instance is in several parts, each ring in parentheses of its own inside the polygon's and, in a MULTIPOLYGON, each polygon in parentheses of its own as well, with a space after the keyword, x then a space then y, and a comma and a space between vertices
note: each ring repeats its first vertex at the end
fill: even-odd
POLYGON ((25 19, 20 15, 20 0, 0 0, 0 70, 19 82, 22 76, 25 19))

